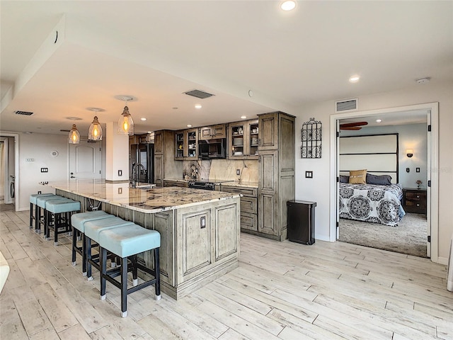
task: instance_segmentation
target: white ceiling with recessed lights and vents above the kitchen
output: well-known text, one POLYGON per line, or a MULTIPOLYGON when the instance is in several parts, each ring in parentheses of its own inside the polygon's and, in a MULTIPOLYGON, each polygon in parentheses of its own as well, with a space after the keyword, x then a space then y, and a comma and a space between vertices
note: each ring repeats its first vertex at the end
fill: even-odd
POLYGON ((423 77, 453 81, 453 1, 279 4, 0 1, 0 128, 64 133, 76 123, 86 135, 86 108, 117 121, 118 95, 137 98, 128 106, 142 133, 297 113, 313 101, 424 86, 415 83, 423 77), (215 96, 182 94, 192 89, 215 96))

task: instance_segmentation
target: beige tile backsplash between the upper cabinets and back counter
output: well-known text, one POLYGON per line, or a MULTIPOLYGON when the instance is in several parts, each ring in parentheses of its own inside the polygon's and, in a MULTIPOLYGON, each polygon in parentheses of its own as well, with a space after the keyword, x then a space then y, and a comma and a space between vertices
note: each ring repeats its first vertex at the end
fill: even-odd
POLYGON ((197 179, 228 179, 231 181, 258 182, 257 160, 211 159, 183 161, 183 174, 191 177, 197 169, 197 179), (236 175, 239 169, 241 175, 236 175))

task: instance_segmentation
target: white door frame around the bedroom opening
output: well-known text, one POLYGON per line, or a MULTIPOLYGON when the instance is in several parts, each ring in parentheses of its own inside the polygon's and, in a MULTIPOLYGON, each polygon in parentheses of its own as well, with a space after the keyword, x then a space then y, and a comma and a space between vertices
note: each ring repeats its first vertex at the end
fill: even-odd
MULTIPOLYGON (((340 120, 345 118, 360 119, 374 115, 394 115, 403 114, 411 111, 425 111, 427 115, 428 125, 430 125, 430 132, 428 133, 428 186, 427 189, 427 235, 431 242, 427 239, 427 256, 431 257, 432 261, 437 261, 437 234, 438 234, 438 182, 437 182, 437 153, 438 153, 438 103, 427 103, 413 106, 404 106, 401 108, 389 108, 373 111, 362 111, 354 113, 338 113, 331 115, 331 241, 338 238, 339 224, 339 207, 338 207, 338 191, 339 183, 337 183, 337 176, 339 176, 338 157, 339 147, 337 136, 337 128, 340 120)), ((406 152, 403 150, 402 152, 406 152)))

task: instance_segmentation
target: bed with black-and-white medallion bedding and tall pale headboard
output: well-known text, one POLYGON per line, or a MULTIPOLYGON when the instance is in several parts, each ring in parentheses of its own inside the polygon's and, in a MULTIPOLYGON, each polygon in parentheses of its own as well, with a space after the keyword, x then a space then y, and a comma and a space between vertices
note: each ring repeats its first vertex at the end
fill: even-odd
POLYGON ((398 134, 340 137, 339 166, 340 218, 398 225, 406 215, 398 184, 398 134))

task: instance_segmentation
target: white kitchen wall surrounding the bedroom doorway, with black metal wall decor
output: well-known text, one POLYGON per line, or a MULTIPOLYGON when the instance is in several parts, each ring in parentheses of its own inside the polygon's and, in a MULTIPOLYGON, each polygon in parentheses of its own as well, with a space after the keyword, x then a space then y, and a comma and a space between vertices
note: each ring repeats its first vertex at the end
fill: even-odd
MULTIPOLYGON (((438 254, 442 261, 448 257, 449 239, 453 233, 453 83, 414 85, 408 89, 359 96, 360 111, 396 108, 420 103, 439 102, 439 234, 438 254)), ((296 199, 316 201, 316 239, 330 237, 330 116, 334 101, 311 103, 302 106, 296 113, 296 199), (302 123, 314 117, 323 123, 323 149, 321 159, 300 158, 300 129, 302 123), (306 170, 314 171, 313 179, 305 179, 306 170)), ((437 171, 436 171, 437 170, 437 171)))

